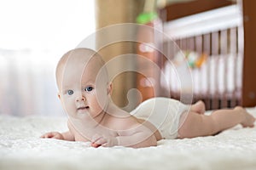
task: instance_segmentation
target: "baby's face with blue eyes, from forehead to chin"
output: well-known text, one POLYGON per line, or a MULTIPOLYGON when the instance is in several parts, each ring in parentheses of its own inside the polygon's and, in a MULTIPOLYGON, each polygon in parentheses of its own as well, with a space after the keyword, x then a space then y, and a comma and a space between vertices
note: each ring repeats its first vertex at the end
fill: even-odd
POLYGON ((71 58, 63 68, 60 98, 68 116, 94 119, 108 105, 108 79, 97 59, 71 58))

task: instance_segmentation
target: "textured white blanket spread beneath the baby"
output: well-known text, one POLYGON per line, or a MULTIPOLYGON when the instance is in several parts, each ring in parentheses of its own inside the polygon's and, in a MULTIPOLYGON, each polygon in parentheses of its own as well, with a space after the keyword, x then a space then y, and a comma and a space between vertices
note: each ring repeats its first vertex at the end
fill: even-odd
MULTIPOLYGON (((256 116, 256 108, 248 111, 256 116)), ((39 139, 52 130, 67 130, 67 118, 0 116, 0 169, 256 169, 256 127, 142 149, 39 139)))

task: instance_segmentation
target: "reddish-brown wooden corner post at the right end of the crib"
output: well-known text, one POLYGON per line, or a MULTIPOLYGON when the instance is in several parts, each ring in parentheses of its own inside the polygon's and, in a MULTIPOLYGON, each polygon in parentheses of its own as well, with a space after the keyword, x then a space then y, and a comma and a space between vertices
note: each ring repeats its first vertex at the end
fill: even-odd
POLYGON ((256 1, 243 0, 244 60, 241 105, 256 105, 256 1))

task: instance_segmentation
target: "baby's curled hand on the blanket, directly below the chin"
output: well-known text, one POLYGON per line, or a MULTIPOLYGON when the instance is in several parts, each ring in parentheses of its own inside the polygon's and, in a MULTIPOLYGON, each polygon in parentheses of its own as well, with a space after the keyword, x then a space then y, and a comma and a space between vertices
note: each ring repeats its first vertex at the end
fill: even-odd
POLYGON ((91 139, 91 146, 97 148, 99 146, 111 147, 118 145, 118 141, 115 137, 95 134, 91 139))

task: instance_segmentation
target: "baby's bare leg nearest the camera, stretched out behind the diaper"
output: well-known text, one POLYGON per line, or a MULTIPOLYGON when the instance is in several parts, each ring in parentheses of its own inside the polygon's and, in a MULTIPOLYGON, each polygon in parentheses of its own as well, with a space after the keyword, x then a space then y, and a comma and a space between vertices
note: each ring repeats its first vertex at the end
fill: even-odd
POLYGON ((179 138, 195 138, 213 135, 241 123, 243 127, 253 127, 255 118, 241 107, 233 110, 213 111, 210 116, 189 111, 181 117, 179 138))

